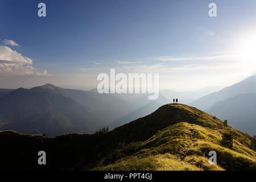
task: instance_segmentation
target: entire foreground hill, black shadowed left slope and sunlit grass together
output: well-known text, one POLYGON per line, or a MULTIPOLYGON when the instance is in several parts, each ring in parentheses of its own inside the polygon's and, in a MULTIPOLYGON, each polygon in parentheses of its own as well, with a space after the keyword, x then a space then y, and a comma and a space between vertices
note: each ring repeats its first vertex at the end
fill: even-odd
POLYGON ((167 104, 108 133, 55 138, 0 132, 0 169, 255 170, 255 138, 195 107, 167 104), (221 136, 234 135, 232 149, 221 136), (47 165, 37 152, 47 152, 47 165), (208 152, 217 152, 217 164, 208 152), (68 157, 67 157, 68 156, 68 157))

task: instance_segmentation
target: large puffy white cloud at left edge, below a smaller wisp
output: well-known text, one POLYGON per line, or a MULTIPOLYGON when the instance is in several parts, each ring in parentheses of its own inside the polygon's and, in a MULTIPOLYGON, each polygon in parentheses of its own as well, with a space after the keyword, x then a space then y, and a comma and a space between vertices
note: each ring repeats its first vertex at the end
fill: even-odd
POLYGON ((32 59, 22 56, 7 46, 0 46, 1 76, 49 76, 46 69, 39 72, 32 64, 32 59))

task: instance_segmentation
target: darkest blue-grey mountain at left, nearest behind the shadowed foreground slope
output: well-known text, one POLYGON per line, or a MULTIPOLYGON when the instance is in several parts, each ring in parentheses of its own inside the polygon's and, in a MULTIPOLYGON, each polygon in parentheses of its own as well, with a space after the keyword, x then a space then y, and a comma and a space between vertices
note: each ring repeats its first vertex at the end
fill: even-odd
POLYGON ((56 136, 92 133, 102 125, 92 112, 71 98, 16 89, 0 98, 0 129, 56 136))

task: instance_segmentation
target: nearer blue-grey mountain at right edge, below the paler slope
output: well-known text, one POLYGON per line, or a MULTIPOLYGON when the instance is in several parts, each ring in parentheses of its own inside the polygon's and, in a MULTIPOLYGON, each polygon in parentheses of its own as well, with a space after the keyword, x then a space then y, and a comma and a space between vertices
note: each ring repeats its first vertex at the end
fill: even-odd
POLYGON ((250 135, 256 134, 256 94, 240 94, 214 104, 208 112, 250 135))

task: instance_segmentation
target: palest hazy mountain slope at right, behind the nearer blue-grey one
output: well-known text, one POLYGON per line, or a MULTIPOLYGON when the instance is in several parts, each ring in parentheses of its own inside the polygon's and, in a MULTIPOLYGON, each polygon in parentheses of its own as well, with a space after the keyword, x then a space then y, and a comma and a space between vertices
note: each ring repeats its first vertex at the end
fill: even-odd
POLYGON ((237 84, 228 86, 218 92, 201 97, 189 105, 202 110, 210 109, 218 101, 224 101, 239 94, 256 93, 256 75, 246 78, 237 84))

